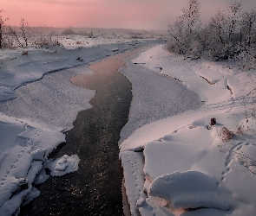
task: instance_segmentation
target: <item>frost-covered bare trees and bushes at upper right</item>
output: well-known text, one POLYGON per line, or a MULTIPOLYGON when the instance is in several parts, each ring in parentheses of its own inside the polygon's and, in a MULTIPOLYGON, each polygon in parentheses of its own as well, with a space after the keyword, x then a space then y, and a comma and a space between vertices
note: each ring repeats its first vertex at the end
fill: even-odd
POLYGON ((189 0, 169 25, 167 48, 193 59, 232 60, 247 69, 256 65, 256 10, 244 11, 241 2, 218 10, 206 25, 200 19, 200 1, 189 0))

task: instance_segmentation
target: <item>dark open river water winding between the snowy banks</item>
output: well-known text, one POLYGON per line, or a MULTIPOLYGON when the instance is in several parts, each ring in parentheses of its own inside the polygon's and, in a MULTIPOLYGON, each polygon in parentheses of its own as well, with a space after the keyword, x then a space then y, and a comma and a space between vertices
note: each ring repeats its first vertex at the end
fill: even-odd
POLYGON ((67 143, 54 158, 78 155, 79 168, 39 185, 41 194, 21 208, 24 215, 123 215, 118 141, 128 121, 131 86, 116 69, 123 67, 119 54, 90 66, 93 74, 71 79, 76 86, 96 90, 93 107, 79 112, 67 143))

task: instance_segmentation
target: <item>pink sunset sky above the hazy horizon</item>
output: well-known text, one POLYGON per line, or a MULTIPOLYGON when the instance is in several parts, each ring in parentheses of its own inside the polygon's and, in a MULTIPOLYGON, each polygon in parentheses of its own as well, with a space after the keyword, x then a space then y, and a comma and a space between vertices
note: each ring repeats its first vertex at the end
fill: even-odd
MULTIPOLYGON (((188 0, 1 0, 2 16, 10 25, 21 17, 30 26, 167 29, 188 0)), ((201 0, 202 18, 213 16, 229 0, 201 0)), ((256 0, 244 0, 256 10, 256 0)))

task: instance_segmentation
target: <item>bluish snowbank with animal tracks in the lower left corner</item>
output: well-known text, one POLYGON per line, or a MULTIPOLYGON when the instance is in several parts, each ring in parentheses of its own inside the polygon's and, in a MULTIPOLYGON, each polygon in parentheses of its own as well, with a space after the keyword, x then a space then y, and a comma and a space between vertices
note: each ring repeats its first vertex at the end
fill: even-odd
POLYGON ((0 215, 12 215, 38 195, 32 183, 49 153, 65 136, 45 125, 0 114, 0 215))

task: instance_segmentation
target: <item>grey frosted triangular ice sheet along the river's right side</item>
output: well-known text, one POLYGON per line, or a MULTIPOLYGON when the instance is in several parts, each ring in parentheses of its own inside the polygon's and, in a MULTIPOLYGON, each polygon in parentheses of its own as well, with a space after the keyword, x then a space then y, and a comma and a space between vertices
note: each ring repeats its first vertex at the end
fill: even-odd
POLYGON ((145 124, 202 105, 199 95, 178 81, 131 62, 136 56, 137 54, 126 58, 127 67, 119 69, 131 82, 133 92, 128 123, 121 130, 120 143, 145 124))

